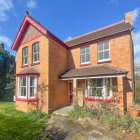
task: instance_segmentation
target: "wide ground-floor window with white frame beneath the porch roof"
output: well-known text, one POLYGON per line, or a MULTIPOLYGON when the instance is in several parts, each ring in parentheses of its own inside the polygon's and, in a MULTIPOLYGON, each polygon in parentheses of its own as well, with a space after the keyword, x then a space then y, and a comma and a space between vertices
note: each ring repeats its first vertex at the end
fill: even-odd
POLYGON ((88 79, 88 97, 109 99, 112 97, 112 78, 88 79))

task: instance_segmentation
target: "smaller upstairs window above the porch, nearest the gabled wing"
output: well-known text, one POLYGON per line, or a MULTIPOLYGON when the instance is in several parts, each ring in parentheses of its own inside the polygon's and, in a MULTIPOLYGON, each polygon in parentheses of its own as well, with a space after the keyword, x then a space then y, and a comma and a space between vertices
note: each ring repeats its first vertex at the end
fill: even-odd
POLYGON ((80 49, 81 64, 90 63, 90 47, 80 49))

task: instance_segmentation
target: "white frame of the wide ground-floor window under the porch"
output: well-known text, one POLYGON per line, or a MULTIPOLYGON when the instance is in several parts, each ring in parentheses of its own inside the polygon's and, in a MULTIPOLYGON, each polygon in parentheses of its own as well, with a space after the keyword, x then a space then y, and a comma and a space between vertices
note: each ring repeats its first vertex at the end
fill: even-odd
MULTIPOLYGON (((89 95, 88 92, 90 92, 90 89, 92 89, 93 87, 90 87, 90 79, 88 79, 88 86, 87 86, 87 97, 88 98, 94 98, 94 99, 111 99, 112 98, 112 89, 110 89, 109 96, 107 96, 107 87, 106 87, 107 79, 110 79, 110 87, 112 87, 112 78, 101 78, 101 79, 103 79, 103 86, 102 87, 95 87, 95 88, 103 88, 101 97, 89 95)), ((95 80, 97 82, 97 79, 95 79, 95 80)))

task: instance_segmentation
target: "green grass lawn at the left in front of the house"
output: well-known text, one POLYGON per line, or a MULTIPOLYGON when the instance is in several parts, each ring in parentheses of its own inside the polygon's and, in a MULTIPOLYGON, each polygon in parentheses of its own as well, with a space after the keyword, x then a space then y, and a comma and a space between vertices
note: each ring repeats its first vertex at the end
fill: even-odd
POLYGON ((13 102, 0 103, 0 140, 32 140, 41 134, 47 118, 39 111, 17 111, 13 102))

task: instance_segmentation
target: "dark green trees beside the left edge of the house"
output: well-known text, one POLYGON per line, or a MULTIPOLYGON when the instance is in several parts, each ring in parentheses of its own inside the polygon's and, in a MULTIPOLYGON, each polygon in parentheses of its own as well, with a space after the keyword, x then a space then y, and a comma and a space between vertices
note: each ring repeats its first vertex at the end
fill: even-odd
POLYGON ((10 87, 14 93, 15 86, 15 56, 11 55, 0 44, 0 95, 6 93, 7 87, 10 87))

